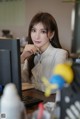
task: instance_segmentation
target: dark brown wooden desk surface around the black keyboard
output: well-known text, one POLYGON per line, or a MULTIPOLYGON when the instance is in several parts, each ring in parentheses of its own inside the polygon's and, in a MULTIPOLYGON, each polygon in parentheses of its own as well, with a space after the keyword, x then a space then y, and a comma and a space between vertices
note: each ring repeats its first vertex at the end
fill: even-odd
MULTIPOLYGON (((45 97, 43 92, 41 92, 37 89, 34 89, 34 88, 23 91, 23 94, 42 99, 43 103, 46 103, 46 102, 49 102, 49 101, 54 102, 54 100, 55 100, 55 94, 51 94, 49 97, 45 97)), ((30 108, 27 108, 26 111, 27 111, 27 113, 32 113, 36 109, 37 109, 37 105, 35 105, 33 107, 30 107, 30 108)))

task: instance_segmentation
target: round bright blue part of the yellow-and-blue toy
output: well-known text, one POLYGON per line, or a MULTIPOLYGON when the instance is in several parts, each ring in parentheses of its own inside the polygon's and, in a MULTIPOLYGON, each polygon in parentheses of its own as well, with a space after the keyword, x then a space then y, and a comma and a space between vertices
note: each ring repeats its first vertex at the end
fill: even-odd
POLYGON ((65 84, 65 80, 60 75, 54 75, 54 76, 52 76, 50 78, 49 82, 51 84, 57 84, 58 85, 58 89, 62 89, 64 87, 64 84, 65 84))

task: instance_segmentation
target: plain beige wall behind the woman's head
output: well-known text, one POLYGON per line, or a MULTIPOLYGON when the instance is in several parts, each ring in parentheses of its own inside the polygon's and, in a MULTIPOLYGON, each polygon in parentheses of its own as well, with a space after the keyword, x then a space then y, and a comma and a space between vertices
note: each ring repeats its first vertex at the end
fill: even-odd
POLYGON ((16 19, 16 23, 13 22, 13 26, 9 24, 4 24, 3 26, 1 26, 0 24, 0 30, 3 28, 8 28, 12 31, 15 37, 26 37, 31 18, 35 15, 35 13, 39 11, 46 11, 51 13, 55 17, 59 28, 60 42, 63 48, 70 51, 72 42, 71 11, 74 7, 74 4, 70 2, 64 3, 62 2, 62 0, 22 0, 22 2, 23 5, 20 6, 22 10, 21 14, 19 12, 19 7, 17 9, 21 16, 16 16, 18 18, 16 19), (18 22, 20 22, 21 25, 17 25, 18 22))

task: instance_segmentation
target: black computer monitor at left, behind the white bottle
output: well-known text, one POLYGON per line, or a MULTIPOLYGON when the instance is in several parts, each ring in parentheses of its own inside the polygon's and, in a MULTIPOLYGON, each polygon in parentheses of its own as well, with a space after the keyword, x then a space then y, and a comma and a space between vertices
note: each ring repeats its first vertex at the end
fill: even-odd
POLYGON ((0 94, 10 82, 21 96, 20 40, 0 39, 0 94))

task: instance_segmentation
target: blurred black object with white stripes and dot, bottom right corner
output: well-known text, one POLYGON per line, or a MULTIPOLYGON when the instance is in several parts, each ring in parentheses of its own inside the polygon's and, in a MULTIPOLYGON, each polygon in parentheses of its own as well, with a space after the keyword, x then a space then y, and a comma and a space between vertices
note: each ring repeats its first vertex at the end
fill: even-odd
POLYGON ((73 82, 61 90, 60 119, 73 119, 73 117, 79 119, 80 117, 80 64, 73 63, 72 69, 73 82))

